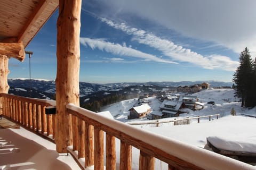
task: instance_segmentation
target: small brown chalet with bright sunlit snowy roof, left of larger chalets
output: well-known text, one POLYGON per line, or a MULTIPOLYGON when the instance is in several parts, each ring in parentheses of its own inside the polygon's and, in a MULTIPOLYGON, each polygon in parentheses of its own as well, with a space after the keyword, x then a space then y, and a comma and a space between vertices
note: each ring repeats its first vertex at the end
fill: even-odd
POLYGON ((130 111, 130 115, 128 116, 129 119, 142 118, 142 117, 146 117, 147 114, 150 113, 151 107, 145 104, 145 105, 133 107, 129 109, 129 111, 130 111))

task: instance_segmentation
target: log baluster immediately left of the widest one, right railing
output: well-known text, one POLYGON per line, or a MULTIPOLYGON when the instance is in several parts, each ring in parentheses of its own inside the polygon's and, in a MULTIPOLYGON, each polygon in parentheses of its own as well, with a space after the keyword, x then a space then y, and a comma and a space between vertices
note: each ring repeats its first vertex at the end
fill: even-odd
POLYGON ((121 140, 120 169, 132 169, 132 146, 121 140))

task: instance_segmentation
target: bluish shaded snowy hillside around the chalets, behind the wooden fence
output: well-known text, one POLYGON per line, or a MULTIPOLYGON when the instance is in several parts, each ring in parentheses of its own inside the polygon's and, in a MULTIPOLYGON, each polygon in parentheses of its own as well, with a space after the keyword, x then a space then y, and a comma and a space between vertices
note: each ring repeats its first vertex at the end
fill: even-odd
MULTIPOLYGON (((239 99, 234 97, 233 89, 211 89, 203 90, 192 94, 191 96, 197 96, 199 102, 204 104, 204 108, 200 111, 189 111, 188 114, 181 114, 180 117, 196 117, 204 115, 220 114, 220 117, 230 115, 232 108, 235 109, 237 114, 242 113, 253 113, 252 110, 242 108, 239 99), (215 105, 207 104, 209 101, 214 101, 215 105)), ((150 107, 154 111, 159 110, 159 106, 162 104, 156 97, 148 98, 150 101, 150 107)), ((137 99, 124 100, 120 103, 116 103, 105 107, 102 111, 109 111, 116 120, 127 122, 127 121, 147 121, 147 118, 137 119, 137 120, 127 120, 129 115, 129 109, 132 108, 137 103, 137 99)), ((177 118, 177 117, 176 117, 177 118)), ((173 118, 171 118, 173 119, 173 118)))

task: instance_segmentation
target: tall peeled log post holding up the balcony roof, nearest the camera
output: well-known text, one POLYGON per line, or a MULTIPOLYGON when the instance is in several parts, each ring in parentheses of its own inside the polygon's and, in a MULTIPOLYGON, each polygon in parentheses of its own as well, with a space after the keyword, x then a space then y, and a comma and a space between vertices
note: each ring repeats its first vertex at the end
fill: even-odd
POLYGON ((82 0, 59 1, 57 21, 56 150, 66 153, 70 143, 71 115, 66 105, 79 106, 79 68, 82 0))

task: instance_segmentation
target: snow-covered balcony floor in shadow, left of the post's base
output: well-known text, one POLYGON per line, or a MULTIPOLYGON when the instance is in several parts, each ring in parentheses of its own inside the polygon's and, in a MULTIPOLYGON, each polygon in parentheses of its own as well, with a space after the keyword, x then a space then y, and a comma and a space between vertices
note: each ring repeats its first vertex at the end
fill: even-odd
POLYGON ((55 144, 23 128, 0 129, 0 169, 80 169, 55 144))

